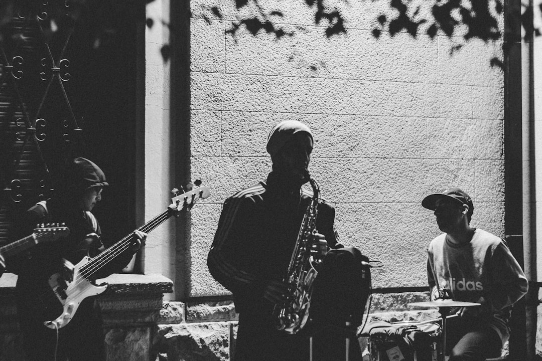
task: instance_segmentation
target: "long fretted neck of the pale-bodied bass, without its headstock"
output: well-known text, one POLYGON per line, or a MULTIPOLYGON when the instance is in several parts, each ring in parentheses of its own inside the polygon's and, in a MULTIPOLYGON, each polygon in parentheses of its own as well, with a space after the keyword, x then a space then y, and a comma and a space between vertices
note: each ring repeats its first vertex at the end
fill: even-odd
MULTIPOLYGON (((160 213, 150 221, 146 222, 143 226, 137 228, 138 231, 149 233, 154 228, 161 225, 164 221, 169 219, 171 217, 171 212, 169 210, 160 213)), ((100 254, 96 255, 96 257, 92 258, 85 264, 83 267, 81 267, 81 275, 85 278, 91 277, 92 274, 100 270, 100 268, 104 267, 106 264, 108 264, 109 261, 112 261, 115 259, 119 254, 126 251, 128 248, 130 248, 130 245, 133 241, 133 232, 128 234, 126 237, 122 238, 120 241, 112 245, 111 247, 106 248, 104 252, 101 252, 100 254)))

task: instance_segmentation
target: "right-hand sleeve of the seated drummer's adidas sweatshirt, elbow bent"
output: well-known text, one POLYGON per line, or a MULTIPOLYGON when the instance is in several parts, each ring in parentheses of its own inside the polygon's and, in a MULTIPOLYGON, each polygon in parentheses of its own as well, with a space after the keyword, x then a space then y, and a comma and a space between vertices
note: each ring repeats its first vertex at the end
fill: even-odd
POLYGON ((495 286, 491 290, 491 304, 495 311, 513 305, 527 293, 525 273, 502 241, 493 252, 492 278, 495 286))

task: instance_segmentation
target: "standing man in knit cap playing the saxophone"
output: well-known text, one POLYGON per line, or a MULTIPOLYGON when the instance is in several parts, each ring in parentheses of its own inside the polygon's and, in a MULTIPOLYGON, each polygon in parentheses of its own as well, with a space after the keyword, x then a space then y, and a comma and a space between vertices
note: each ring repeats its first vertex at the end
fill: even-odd
MULTIPOLYGON (((279 123, 268 137, 273 171, 267 181, 224 202, 208 265, 213 277, 234 296, 239 314, 235 361, 309 359, 308 336, 314 327, 299 327, 302 330, 295 332, 278 330, 281 327, 276 326, 273 309, 286 303, 292 290, 283 279, 302 219, 313 201, 311 192, 301 188, 309 180, 312 148, 311 130, 305 124, 279 123)), ((318 212, 314 221, 317 232, 311 232, 312 254, 324 258, 328 247, 342 245, 333 225, 334 208, 318 198, 314 201, 318 212)), ((344 335, 339 337, 343 356, 324 355, 333 352, 333 345, 319 344, 315 337, 313 359, 344 359, 344 335)), ((352 345, 360 355, 359 344, 352 345)))

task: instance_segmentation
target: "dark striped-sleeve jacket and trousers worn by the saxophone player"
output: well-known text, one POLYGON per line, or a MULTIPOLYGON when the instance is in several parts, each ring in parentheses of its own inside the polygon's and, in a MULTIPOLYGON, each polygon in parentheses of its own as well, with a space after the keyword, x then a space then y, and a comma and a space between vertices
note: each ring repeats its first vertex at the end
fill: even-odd
MULTIPOLYGON (((208 266, 212 276, 233 293, 239 313, 236 360, 308 359, 307 327, 294 335, 277 331, 272 319, 274 305, 263 298, 263 291, 270 280, 285 276, 311 196, 311 192, 288 188, 270 173, 267 182, 224 202, 208 266)), ((341 247, 333 226, 334 208, 322 200, 317 208, 317 231, 325 235, 330 247, 341 247)), ((338 345, 344 350, 343 336, 338 345)), ((324 359, 330 360, 315 358, 324 359)))

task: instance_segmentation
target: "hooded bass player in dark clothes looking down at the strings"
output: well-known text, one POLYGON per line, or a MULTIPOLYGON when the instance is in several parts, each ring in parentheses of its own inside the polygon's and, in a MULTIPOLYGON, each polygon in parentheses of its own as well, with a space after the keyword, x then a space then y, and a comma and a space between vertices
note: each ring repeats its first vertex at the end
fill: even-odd
MULTIPOLYGON (((50 275, 60 271, 69 280, 74 264, 86 255, 93 257, 110 246, 102 244, 98 220, 91 213, 101 200, 102 189, 108 186, 104 172, 92 161, 76 158, 62 183, 51 199, 38 202, 26 212, 26 224, 64 222, 70 229, 69 237, 36 245, 14 262, 17 264, 14 272, 18 274, 16 300, 23 348, 30 361, 105 360, 104 333, 94 297, 82 301, 66 327, 51 330, 43 324, 58 316, 48 314, 49 301, 59 303, 48 285, 50 275)), ((120 272, 145 239, 145 233, 135 231, 130 248, 96 272, 94 278, 120 272)))

